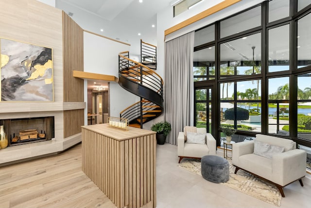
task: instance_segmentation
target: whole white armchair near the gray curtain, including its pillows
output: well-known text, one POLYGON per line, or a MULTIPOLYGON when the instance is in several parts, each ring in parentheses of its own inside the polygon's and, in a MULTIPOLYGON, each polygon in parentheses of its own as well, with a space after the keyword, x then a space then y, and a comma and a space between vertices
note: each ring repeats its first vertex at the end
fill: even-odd
POLYGON ((185 158, 199 158, 208 154, 216 154, 216 140, 206 128, 186 126, 177 138, 178 163, 185 158), (188 132, 188 133, 187 133, 188 132))

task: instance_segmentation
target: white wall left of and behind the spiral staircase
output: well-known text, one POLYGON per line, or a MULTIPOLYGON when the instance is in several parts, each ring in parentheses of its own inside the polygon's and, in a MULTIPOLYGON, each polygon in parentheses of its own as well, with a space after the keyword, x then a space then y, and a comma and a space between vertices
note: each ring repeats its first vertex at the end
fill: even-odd
MULTIPOLYGON (((84 71, 119 77, 118 55, 129 49, 127 44, 84 32, 84 71)), ((85 84, 85 95, 86 88, 85 84)), ((110 116, 114 117, 120 117, 123 109, 137 102, 137 96, 121 88, 117 82, 110 82, 109 96, 110 116)))

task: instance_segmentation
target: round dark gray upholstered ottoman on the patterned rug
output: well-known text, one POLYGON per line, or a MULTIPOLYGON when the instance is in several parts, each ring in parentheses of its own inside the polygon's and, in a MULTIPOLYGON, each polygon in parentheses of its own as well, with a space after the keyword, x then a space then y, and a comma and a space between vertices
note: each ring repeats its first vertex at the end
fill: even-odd
POLYGON ((225 158, 216 155, 203 156, 201 173, 207 181, 225 183, 229 180, 229 163, 225 158))

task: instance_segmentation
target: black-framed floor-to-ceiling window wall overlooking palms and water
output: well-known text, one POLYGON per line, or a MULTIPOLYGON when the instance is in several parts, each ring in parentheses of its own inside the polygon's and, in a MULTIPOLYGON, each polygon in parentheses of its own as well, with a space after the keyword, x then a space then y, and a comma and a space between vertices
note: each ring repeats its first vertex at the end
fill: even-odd
POLYGON ((311 147, 310 34, 311 0, 267 0, 197 30, 197 126, 214 118, 218 145, 231 126, 238 141, 263 133, 311 147))

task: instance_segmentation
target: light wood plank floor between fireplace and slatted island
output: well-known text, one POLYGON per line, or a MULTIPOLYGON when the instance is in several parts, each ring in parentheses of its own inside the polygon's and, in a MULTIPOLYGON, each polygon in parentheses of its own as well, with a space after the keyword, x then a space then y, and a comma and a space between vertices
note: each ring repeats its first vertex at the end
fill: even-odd
POLYGON ((0 208, 114 208, 84 174, 81 144, 58 155, 0 167, 0 208))

